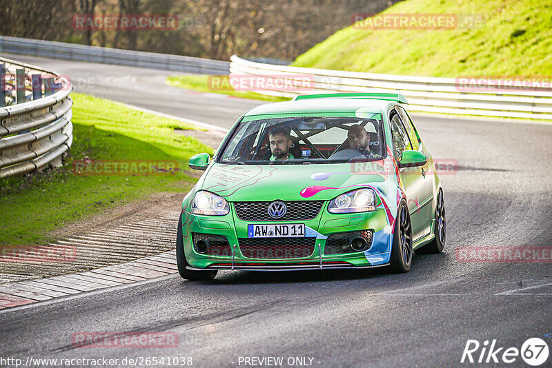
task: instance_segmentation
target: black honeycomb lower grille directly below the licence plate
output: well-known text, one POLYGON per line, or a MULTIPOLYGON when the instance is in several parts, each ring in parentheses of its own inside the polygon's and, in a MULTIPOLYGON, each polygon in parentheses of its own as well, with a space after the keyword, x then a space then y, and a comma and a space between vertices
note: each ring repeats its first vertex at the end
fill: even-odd
POLYGON ((290 259, 311 256, 316 238, 238 238, 239 250, 247 258, 290 259))

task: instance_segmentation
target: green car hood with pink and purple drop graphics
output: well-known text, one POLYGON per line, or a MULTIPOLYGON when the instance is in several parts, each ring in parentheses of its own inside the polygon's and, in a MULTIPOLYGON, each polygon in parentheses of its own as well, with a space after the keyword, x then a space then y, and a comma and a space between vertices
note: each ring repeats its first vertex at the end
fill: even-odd
MULTIPOLYGON (((386 160, 311 165, 227 165, 213 163, 201 189, 228 201, 330 200, 363 185, 379 186, 388 175, 386 160), (385 164, 385 165, 384 165, 385 164)), ((197 188, 199 189, 199 187, 197 188)))

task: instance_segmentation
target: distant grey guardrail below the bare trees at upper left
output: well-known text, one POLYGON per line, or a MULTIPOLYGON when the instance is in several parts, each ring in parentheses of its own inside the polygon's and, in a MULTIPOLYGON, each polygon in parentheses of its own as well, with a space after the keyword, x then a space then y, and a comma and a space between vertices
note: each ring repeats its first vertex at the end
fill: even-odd
POLYGON ((195 74, 228 75, 230 65, 228 61, 201 59, 199 57, 182 57, 179 55, 120 50, 116 48, 99 48, 97 46, 78 45, 76 43, 21 39, 6 36, 0 36, 0 52, 32 55, 35 57, 50 57, 53 59, 174 70, 176 72, 195 74))

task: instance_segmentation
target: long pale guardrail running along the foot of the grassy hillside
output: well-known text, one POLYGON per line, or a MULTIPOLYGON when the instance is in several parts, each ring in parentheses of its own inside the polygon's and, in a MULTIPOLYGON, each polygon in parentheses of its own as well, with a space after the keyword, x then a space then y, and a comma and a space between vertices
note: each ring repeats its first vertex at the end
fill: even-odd
POLYGON ((552 120, 551 88, 534 85, 527 90, 496 88, 496 81, 489 79, 477 90, 462 90, 461 81, 453 78, 343 72, 315 68, 299 68, 248 61, 234 55, 230 58, 230 83, 232 76, 257 76, 263 78, 266 90, 261 93, 293 97, 297 94, 325 92, 400 92, 408 99, 407 110, 445 114, 513 117, 523 119, 552 120), (307 81, 309 88, 270 88, 282 83, 268 83, 279 76, 295 79, 298 85, 307 81), (493 84, 494 83, 494 84, 493 84))

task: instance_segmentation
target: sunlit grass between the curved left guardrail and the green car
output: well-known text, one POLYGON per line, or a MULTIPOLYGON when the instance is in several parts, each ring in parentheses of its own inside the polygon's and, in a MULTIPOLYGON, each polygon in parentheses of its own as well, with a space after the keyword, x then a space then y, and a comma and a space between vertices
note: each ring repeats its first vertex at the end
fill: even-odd
MULTIPOLYGON (((175 134, 190 125, 138 112, 115 102, 84 94, 71 94, 73 134, 70 155, 59 170, 0 179, 0 246, 45 244, 48 232, 155 192, 187 192, 195 183, 180 170, 188 159, 213 149, 197 139, 175 134), (77 165, 92 161, 103 165, 97 175, 77 175, 77 165), (128 162, 162 167, 175 164, 174 174, 153 172, 112 174, 113 163, 128 162)), ((90 168, 90 166, 87 166, 90 168)), ((130 166, 132 167, 132 166, 130 166)))

